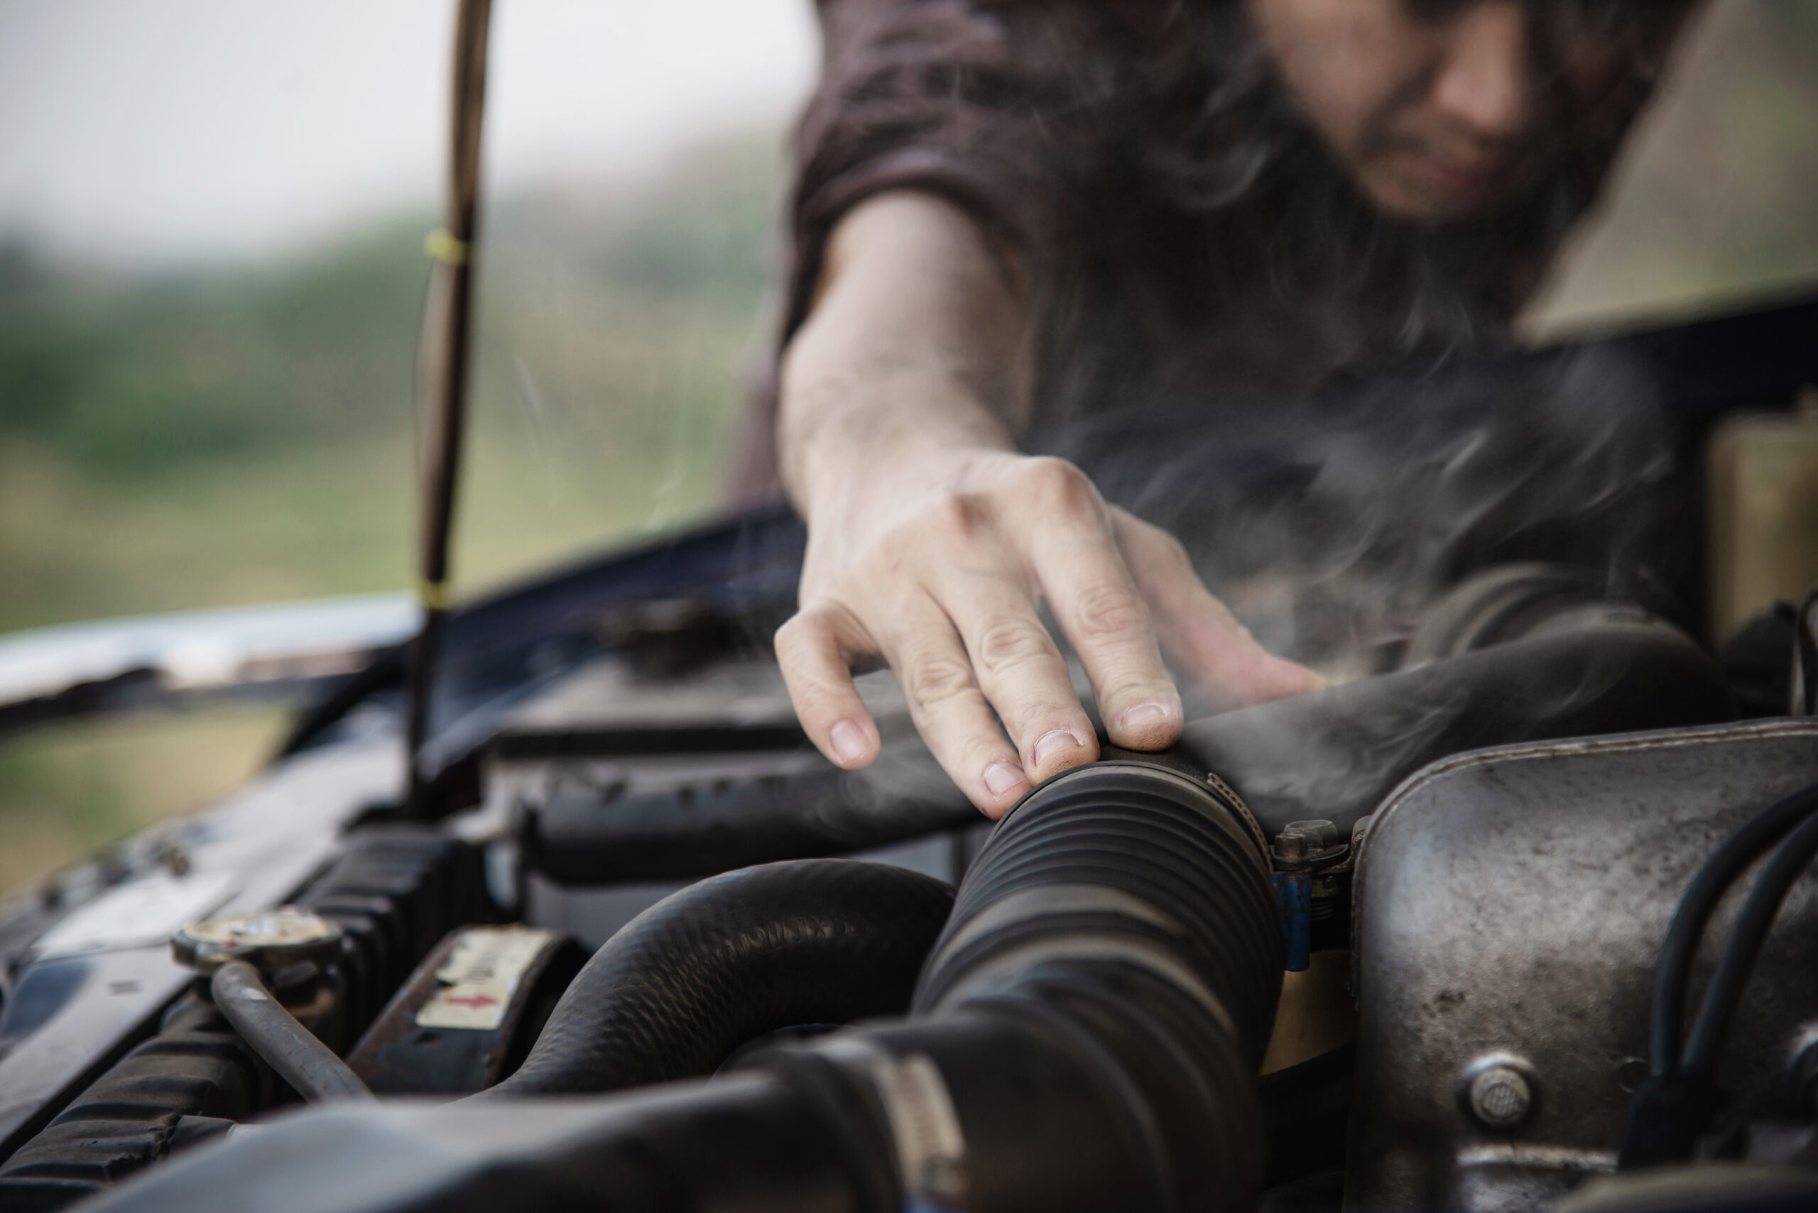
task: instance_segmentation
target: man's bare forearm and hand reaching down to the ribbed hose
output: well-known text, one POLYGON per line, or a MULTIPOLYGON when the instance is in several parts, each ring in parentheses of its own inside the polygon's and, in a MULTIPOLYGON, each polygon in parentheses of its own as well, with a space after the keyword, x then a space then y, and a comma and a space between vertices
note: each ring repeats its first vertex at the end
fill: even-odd
POLYGON ((809 545, 802 610, 776 634, 822 754, 849 770, 876 759, 851 670, 882 657, 991 817, 1096 759, 1044 608, 1111 741, 1133 750, 1180 737, 1158 639, 1238 703, 1320 685, 1264 652, 1173 537, 1107 507, 1071 463, 1016 452, 1027 312, 1014 267, 964 212, 884 194, 840 223, 825 261, 782 367, 778 447, 809 545))

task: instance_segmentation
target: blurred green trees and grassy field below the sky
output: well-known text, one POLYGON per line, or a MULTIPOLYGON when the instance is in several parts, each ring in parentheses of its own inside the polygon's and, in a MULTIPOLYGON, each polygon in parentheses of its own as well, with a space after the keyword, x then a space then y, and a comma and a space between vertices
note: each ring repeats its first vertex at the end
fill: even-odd
MULTIPOLYGON (((462 585, 711 507, 778 145, 487 212, 462 585)), ((0 247, 0 630, 404 587, 429 227, 131 278, 0 247)))

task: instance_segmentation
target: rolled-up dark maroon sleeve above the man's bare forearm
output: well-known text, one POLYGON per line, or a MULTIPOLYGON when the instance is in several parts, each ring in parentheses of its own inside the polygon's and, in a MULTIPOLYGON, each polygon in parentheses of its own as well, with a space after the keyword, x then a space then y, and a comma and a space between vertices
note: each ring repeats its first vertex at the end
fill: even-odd
POLYGON ((796 138, 784 340, 805 314, 827 234, 889 189, 964 207, 1036 278, 1058 269, 1131 122, 1142 7, 822 0, 825 64, 796 138))

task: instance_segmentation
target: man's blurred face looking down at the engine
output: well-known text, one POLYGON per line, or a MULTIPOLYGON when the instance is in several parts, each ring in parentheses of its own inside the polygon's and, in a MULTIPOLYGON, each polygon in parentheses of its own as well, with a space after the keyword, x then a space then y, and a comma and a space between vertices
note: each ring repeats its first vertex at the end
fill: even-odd
POLYGON ((1385 212, 1443 223, 1536 180, 1683 0, 1245 0, 1289 93, 1385 212))

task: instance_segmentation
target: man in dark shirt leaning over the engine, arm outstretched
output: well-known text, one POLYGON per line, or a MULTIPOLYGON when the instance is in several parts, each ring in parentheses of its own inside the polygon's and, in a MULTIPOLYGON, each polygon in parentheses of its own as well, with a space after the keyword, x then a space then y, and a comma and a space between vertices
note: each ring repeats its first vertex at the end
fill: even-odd
POLYGON ((1162 648, 1233 703, 1318 686, 1018 441, 1503 340, 1691 7, 824 0, 774 403, 814 745, 876 757, 851 670, 882 657, 1002 815, 1098 755, 1044 610, 1120 746, 1180 734, 1162 648))

